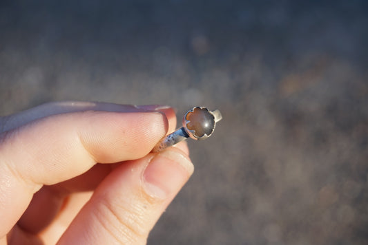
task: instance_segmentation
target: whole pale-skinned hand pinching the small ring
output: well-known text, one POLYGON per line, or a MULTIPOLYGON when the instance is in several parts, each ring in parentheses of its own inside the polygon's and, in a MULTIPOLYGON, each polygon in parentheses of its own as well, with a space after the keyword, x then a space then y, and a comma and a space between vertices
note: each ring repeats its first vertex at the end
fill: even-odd
POLYGON ((146 244, 193 173, 171 107, 48 103, 0 118, 0 245, 146 244))

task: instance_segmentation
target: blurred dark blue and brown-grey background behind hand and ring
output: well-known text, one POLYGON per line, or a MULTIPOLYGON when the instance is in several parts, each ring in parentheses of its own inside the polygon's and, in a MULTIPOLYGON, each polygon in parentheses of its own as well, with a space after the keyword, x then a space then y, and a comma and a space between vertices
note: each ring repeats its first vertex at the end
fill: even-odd
POLYGON ((220 109, 148 244, 368 244, 368 1, 0 1, 0 114, 220 109))

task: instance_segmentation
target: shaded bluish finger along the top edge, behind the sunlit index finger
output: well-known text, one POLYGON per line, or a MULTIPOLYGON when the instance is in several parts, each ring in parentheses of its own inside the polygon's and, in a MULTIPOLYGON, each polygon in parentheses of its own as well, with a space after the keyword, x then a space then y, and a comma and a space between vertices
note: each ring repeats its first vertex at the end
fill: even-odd
MULTIPOLYGON (((144 112, 162 111, 167 118, 175 118, 175 112, 167 105, 119 105, 114 103, 60 101, 50 102, 10 116, 3 116, 0 120, 0 132, 15 129, 28 122, 51 116, 77 111, 115 111, 115 112, 144 112)), ((176 118, 175 118, 176 119, 176 118)), ((175 127, 175 123, 173 123, 175 127)), ((172 129, 173 130, 173 129, 172 129)), ((169 131, 171 131, 169 129, 169 131)))

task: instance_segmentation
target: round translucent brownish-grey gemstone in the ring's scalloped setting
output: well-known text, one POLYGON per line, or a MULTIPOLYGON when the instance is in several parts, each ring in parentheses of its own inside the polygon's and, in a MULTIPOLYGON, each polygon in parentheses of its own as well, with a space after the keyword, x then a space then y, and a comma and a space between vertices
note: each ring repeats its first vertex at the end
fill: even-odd
POLYGON ((186 114, 186 127, 193 131, 195 138, 210 136, 215 128, 215 118, 206 108, 195 107, 186 114))

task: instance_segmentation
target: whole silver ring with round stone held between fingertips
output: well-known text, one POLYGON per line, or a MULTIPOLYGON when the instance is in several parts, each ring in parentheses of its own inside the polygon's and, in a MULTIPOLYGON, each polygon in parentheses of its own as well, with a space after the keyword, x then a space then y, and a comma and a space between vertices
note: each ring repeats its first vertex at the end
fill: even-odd
POLYGON ((162 151, 189 137, 194 140, 209 138, 215 131, 216 122, 221 119, 222 115, 218 109, 210 111, 206 107, 193 107, 184 115, 183 127, 159 140, 152 152, 162 151))

